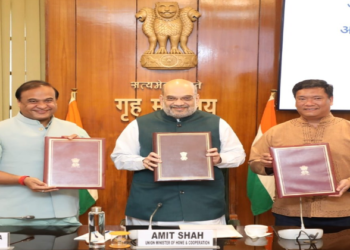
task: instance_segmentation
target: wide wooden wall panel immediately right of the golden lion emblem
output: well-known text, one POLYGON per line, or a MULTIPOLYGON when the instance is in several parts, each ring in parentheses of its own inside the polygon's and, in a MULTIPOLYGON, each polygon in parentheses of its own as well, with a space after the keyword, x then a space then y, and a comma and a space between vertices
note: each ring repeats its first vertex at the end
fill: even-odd
MULTIPOLYGON (((248 152, 256 127, 258 1, 203 1, 199 23, 198 79, 202 98, 218 99, 226 120, 248 152)), ((246 197, 247 164, 230 170, 230 214, 252 223, 246 197)))

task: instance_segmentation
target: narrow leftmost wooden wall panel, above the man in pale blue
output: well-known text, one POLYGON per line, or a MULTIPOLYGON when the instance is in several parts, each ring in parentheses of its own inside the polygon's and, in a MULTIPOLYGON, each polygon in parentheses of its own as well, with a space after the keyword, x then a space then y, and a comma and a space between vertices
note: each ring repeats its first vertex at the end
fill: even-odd
POLYGON ((46 80, 60 92, 55 114, 65 119, 75 83, 75 0, 46 0, 46 80))

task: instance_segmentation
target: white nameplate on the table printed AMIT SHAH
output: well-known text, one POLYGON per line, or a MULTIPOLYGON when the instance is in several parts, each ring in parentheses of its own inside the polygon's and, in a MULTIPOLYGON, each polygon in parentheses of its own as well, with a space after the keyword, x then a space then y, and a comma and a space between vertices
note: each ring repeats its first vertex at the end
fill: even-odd
POLYGON ((139 230, 138 246, 213 246, 213 230, 139 230))

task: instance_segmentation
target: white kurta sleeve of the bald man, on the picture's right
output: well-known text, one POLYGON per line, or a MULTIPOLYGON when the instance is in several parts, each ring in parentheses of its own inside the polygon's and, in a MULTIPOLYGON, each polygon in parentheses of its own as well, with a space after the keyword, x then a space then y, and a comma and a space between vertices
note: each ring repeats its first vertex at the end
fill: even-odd
POLYGON ((246 156, 243 146, 230 125, 223 119, 220 119, 219 122, 219 133, 221 163, 216 166, 219 168, 234 168, 242 165, 246 156))

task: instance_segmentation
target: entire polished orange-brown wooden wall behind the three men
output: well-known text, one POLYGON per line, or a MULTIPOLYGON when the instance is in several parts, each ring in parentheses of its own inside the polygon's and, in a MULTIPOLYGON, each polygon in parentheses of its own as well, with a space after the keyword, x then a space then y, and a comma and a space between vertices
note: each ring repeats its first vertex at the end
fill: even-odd
MULTIPOLYGON (((47 81, 61 92, 57 117, 67 113, 70 91, 78 88, 84 128, 107 140, 106 189, 97 204, 107 224, 119 224, 132 174, 118 171, 110 160, 115 140, 128 122, 115 107, 116 98, 141 98, 141 115, 152 112, 155 89, 135 90, 131 82, 166 82, 184 78, 203 82, 201 98, 218 99, 217 114, 241 140, 247 158, 270 90, 277 88, 282 0, 179 0, 202 17, 189 38, 198 66, 189 70, 148 70, 140 57, 148 47, 142 23, 134 15, 156 0, 46 0, 47 81)), ((337 114, 347 117, 345 113, 337 114)), ((297 117, 277 112, 278 122, 297 117)), ((348 116, 349 117, 349 116, 348 116)), ((130 121, 134 118, 129 113, 130 121)), ((273 224, 270 212, 255 218, 246 194, 247 164, 230 170, 230 213, 241 224, 273 224)), ((86 216, 82 216, 86 224, 86 216)))

